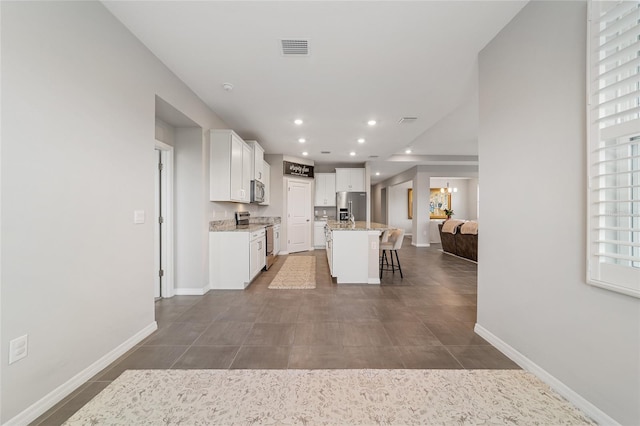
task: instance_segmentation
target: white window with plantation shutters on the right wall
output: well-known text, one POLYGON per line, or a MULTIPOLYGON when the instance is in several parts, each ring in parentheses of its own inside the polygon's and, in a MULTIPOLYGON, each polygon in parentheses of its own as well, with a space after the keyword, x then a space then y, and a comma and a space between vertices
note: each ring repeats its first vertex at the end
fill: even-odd
POLYGON ((640 1, 589 1, 587 282, 640 298, 640 1))

